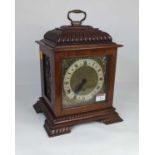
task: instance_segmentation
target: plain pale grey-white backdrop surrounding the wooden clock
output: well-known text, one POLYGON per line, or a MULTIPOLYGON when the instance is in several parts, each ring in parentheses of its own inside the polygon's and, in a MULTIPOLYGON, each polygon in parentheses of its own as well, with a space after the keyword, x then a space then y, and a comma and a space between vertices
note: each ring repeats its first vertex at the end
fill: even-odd
POLYGON ((138 1, 16 0, 16 154, 138 154, 138 1), (67 12, 87 12, 83 24, 108 32, 119 49, 114 106, 123 123, 75 126, 70 134, 48 138, 43 115, 32 109, 40 96, 38 45, 35 40, 69 24, 67 12))

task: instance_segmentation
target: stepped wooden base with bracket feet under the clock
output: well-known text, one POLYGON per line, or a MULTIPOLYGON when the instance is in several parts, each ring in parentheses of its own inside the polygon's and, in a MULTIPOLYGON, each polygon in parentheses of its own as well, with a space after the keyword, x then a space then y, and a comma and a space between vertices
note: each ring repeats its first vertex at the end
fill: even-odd
POLYGON ((43 97, 40 97, 33 107, 37 113, 45 115, 44 127, 49 137, 69 133, 73 125, 84 122, 100 121, 105 124, 111 124, 123 121, 113 107, 62 117, 56 117, 53 114, 43 97))

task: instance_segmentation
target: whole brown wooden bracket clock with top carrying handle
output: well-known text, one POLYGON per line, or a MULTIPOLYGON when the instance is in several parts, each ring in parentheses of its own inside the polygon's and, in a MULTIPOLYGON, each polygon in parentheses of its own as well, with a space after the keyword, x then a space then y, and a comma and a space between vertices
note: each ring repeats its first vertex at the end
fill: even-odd
POLYGON ((71 131, 73 125, 122 119, 112 105, 117 48, 122 45, 92 26, 82 25, 86 13, 68 12, 69 26, 61 26, 37 41, 40 46, 42 96, 34 109, 46 117, 49 136, 71 131), (71 13, 82 13, 73 21, 71 13))

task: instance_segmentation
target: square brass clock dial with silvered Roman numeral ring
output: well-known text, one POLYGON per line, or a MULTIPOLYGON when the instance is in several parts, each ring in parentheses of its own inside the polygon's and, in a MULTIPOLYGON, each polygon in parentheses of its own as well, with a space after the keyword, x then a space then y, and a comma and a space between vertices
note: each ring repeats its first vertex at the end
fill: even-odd
POLYGON ((106 57, 66 59, 65 63, 68 66, 63 77, 64 107, 96 102, 97 95, 104 94, 106 57))

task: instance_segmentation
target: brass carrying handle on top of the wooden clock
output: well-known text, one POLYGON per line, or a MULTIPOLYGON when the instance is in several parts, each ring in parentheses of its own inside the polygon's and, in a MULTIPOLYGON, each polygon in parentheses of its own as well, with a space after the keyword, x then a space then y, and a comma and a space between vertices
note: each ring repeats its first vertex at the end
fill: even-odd
POLYGON ((87 17, 87 14, 86 12, 82 11, 82 10, 71 10, 68 12, 67 14, 67 18, 71 21, 71 25, 72 26, 80 26, 82 24, 82 22, 86 19, 87 17), (80 21, 73 21, 71 18, 70 18, 70 14, 71 13, 83 13, 84 14, 84 17, 80 20, 80 21))

